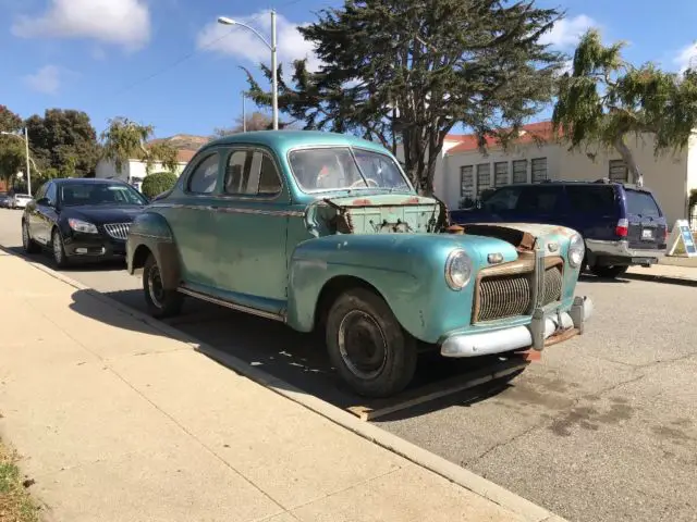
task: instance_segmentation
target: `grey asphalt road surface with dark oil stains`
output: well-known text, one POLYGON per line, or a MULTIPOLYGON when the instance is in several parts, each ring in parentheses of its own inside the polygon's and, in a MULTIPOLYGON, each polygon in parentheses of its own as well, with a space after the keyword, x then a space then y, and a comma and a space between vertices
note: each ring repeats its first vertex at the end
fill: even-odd
MULTIPOLYGON (((20 216, 0 209, 0 245, 17 251, 20 216)), ((123 265, 63 272, 144 309, 123 265)), ((548 348, 510 385, 376 423, 572 521, 697 520, 697 290, 589 277, 578 293, 596 304, 586 334, 548 348)), ((356 403, 311 337, 194 300, 169 323, 325 400, 356 403)), ((423 381, 465 368, 426 362, 423 381)))

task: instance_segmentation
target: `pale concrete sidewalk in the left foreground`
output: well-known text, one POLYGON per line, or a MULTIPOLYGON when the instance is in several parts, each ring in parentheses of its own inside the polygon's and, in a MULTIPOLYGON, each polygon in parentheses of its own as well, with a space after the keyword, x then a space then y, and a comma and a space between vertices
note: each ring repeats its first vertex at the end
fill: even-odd
POLYGON ((562 520, 482 478, 508 500, 473 493, 21 258, 0 251, 0 435, 47 520, 562 520))

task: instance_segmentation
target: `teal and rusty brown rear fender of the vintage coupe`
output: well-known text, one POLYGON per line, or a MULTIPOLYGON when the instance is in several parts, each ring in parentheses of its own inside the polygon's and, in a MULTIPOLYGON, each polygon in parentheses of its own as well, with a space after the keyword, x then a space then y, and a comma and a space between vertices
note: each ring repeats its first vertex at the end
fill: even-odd
POLYGON ((133 220, 129 228, 126 263, 130 274, 143 268, 148 253, 155 256, 162 286, 176 289, 181 282, 181 265, 174 235, 164 216, 146 210, 133 220))

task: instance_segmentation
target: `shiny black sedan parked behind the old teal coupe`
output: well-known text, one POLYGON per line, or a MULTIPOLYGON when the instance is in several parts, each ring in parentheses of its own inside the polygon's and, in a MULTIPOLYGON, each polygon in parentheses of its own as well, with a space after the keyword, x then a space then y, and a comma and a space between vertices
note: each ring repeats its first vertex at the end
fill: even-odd
POLYGON ((24 209, 24 250, 49 249, 59 268, 78 260, 123 259, 129 227, 147 203, 123 182, 51 179, 24 209))

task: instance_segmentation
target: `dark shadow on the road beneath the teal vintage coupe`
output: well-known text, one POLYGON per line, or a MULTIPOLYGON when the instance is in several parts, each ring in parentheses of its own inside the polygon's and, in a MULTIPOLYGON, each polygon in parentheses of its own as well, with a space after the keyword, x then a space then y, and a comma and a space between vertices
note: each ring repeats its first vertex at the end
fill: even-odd
MULTIPOLYGON (((311 334, 302 334, 290 327, 270 320, 235 312, 223 307, 186 299, 183 313, 178 318, 162 321, 173 328, 157 330, 155 320, 145 322, 134 320, 129 315, 127 308, 144 312, 143 295, 140 290, 122 290, 105 293, 103 295, 118 301, 121 312, 96 306, 97 298, 94 290, 78 290, 73 294, 71 309, 97 321, 111 324, 119 328, 131 328, 150 335, 158 334, 178 338, 185 343, 201 343, 216 350, 234 356, 249 366, 256 368, 279 380, 274 386, 283 387, 285 383, 304 393, 314 395, 321 400, 339 408, 363 407, 378 409, 398 405, 405 396, 418 395, 417 389, 430 387, 435 383, 463 381, 472 372, 484 365, 496 364, 497 358, 480 358, 472 360, 453 360, 441 358, 438 353, 420 356, 419 366, 409 387, 399 396, 390 399, 371 400, 353 394, 340 381, 331 368, 321 338, 311 334), (127 307, 127 308, 126 308, 127 307), (148 324, 152 323, 152 325, 148 324)), ((199 351, 207 353, 205 348, 199 351)), ((220 361, 218 361, 220 362, 220 361)), ((438 386, 436 384, 436 386, 438 386)), ((477 388, 460 391, 445 398, 435 399, 389 415, 391 421, 421 415, 430 411, 451 406, 470 406, 485 400, 505 389, 502 382, 492 382, 477 388)))

